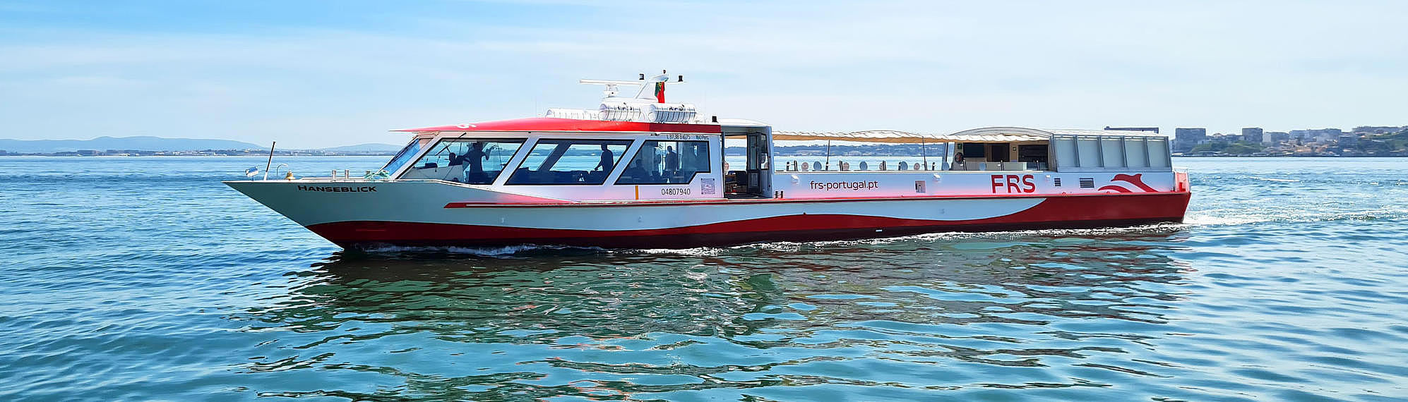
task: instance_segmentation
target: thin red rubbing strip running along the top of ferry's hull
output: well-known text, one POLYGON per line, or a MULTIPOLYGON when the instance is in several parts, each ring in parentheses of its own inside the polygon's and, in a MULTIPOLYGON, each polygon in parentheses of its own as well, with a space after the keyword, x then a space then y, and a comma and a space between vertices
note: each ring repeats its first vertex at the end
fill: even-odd
MULTIPOLYGON (((1105 188, 1100 188, 1105 190, 1105 188)), ((1129 193, 1128 190, 1124 193, 1129 193)), ((631 200, 631 201, 580 201, 580 202, 449 202, 445 208, 542 208, 542 207, 669 207, 691 204, 779 204, 779 202, 860 202, 860 201, 917 201, 917 200, 993 200, 993 198, 1059 198, 1059 197, 1150 197, 1190 194, 1184 193, 1129 193, 1129 194, 1033 194, 1033 195, 915 195, 915 197, 829 197, 829 198, 718 198, 718 200, 631 200)), ((1133 201, 1132 201, 1133 202, 1133 201)))

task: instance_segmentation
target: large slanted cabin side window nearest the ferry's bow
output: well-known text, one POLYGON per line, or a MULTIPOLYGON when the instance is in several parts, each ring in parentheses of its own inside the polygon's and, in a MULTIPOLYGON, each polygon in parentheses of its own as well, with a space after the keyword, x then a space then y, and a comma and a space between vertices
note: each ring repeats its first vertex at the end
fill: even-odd
POLYGON ((522 139, 448 138, 431 146, 401 179, 490 184, 524 143, 522 139))

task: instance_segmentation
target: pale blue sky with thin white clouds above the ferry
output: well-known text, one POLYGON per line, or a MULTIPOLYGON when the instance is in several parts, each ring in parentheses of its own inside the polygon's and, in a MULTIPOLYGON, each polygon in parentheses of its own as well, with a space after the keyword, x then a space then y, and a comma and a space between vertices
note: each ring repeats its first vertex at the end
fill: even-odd
POLYGON ((13 1, 0 138, 403 142, 594 108, 779 129, 1408 125, 1408 1, 13 1))

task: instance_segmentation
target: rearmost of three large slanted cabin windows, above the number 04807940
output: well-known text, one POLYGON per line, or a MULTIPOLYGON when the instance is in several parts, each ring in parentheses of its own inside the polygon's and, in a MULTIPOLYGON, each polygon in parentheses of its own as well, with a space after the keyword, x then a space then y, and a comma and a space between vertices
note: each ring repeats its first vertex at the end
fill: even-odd
POLYGON ((617 184, 683 184, 710 171, 707 141, 646 141, 617 184))

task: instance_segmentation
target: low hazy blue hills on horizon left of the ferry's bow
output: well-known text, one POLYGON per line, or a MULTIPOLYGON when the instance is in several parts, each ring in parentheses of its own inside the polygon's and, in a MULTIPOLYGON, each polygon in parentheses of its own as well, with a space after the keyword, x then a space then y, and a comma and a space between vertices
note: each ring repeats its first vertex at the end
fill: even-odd
POLYGON ((0 150, 11 153, 52 153, 80 149, 137 149, 137 150, 204 150, 204 149, 268 149, 230 139, 159 138, 159 136, 99 136, 94 139, 0 139, 0 150))

